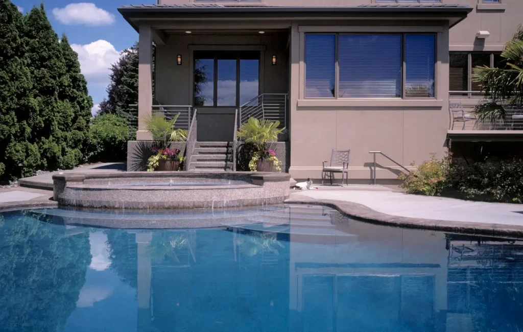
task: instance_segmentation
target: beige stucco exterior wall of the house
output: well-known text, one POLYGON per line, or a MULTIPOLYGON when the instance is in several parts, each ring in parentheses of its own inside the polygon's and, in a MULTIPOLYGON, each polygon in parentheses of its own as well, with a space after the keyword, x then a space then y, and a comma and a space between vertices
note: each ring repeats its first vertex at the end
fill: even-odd
MULTIPOLYGON (((374 0, 292 0, 281 3, 265 0, 265 5, 289 6, 351 6, 369 4, 374 0)), ((203 45, 240 47, 260 45, 264 48, 264 71, 260 76, 261 92, 286 93, 289 96, 290 170, 296 179, 321 177, 322 161, 328 160, 332 149, 351 150, 349 179, 370 181, 372 154, 382 151, 403 165, 420 163, 436 153, 446 151, 449 125, 449 51, 501 51, 523 22, 523 1, 501 0, 501 4, 483 4, 482 0, 442 0, 444 4, 463 4, 473 8, 469 17, 449 29, 445 21, 427 20, 331 20, 331 21, 185 21, 173 22, 169 27, 162 22, 158 30, 165 33, 165 45, 156 50, 156 99, 162 104, 192 104, 191 50, 203 45), (216 35, 184 35, 185 28, 245 29, 247 32, 220 31, 216 35), (266 27, 266 28, 264 28, 266 27), (257 35, 257 29, 277 28, 278 35, 257 35), (304 33, 328 32, 434 32, 437 33, 436 97, 423 100, 406 99, 340 99, 311 100, 304 98, 304 33), (322 30, 323 29, 323 30, 322 30), (182 31, 180 31, 182 30, 182 31), (253 31, 254 30, 254 31, 253 31), (490 36, 477 39, 477 31, 488 31, 490 36), (174 30, 173 30, 174 31, 174 30), (248 32, 250 31, 250 32, 248 32), (182 32, 182 33, 180 33, 182 32), (233 32, 234 33, 234 32, 233 32), (290 34, 290 49, 287 38, 290 34), (176 65, 176 55, 183 56, 183 65, 176 65), (278 56, 278 66, 271 66, 272 54, 278 56), (289 59, 287 59, 289 55, 289 59), (281 61, 280 61, 281 59, 281 61), (289 60, 289 61, 288 61, 289 60), (288 65, 287 65, 288 64, 288 65), (289 77, 290 72, 290 79, 289 77), (290 84, 289 84, 290 83, 290 84)), ((161 4, 187 4, 191 0, 160 0, 161 4)), ((222 3, 226 5, 229 3, 222 3)), ((237 3, 234 3, 237 5, 237 3)), ((247 3, 245 5, 252 5, 247 3)), ((259 3, 254 3, 259 4, 259 3)), ((142 39, 142 33, 140 34, 142 39)), ((146 38, 146 33, 144 38, 146 38)), ((142 84, 140 75, 140 84, 142 84)), ((142 91, 142 90, 141 90, 142 91)), ((141 98, 140 98, 141 99, 141 98)), ((144 136, 145 137, 145 136, 144 136)), ((139 136, 140 139, 140 136, 139 136)), ((378 179, 396 179, 400 167, 378 156, 378 179)), ((338 176, 339 177, 339 176, 338 176)))

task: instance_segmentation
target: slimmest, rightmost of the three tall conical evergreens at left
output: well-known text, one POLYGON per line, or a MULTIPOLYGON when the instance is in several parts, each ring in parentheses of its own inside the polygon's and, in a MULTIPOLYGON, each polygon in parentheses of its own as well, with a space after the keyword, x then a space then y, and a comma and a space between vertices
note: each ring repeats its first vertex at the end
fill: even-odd
POLYGON ((68 100, 73 108, 71 131, 67 133, 66 141, 70 142, 70 148, 77 150, 75 154, 82 155, 84 142, 87 139, 86 134, 89 130, 93 99, 88 94, 87 81, 80 71, 78 54, 73 51, 65 35, 62 35, 60 48, 68 79, 65 81, 66 84, 62 85, 59 97, 62 100, 68 100))

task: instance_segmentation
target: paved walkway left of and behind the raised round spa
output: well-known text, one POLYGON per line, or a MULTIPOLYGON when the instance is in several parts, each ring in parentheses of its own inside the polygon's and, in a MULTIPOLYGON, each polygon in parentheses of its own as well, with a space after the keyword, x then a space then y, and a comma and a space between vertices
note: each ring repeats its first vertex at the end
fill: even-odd
POLYGON ((18 180, 22 187, 53 190, 53 175, 62 173, 108 173, 126 170, 126 163, 98 163, 82 165, 69 170, 61 170, 18 180))

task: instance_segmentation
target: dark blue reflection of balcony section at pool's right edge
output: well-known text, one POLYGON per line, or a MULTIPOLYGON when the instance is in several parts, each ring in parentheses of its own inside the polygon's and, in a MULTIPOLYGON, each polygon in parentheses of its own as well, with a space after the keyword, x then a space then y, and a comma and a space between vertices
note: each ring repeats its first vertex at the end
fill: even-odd
POLYGON ((523 242, 447 235, 448 316, 463 331, 520 330, 523 242), (515 328, 515 329, 513 329, 515 328))

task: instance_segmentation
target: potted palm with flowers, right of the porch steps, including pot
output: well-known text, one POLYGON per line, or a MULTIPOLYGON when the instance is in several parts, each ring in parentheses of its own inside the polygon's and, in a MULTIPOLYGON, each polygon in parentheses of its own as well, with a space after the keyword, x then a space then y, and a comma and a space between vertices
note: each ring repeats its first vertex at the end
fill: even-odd
POLYGON ((258 120, 249 118, 241 125, 237 132, 240 139, 252 143, 254 152, 249 162, 251 171, 281 171, 281 162, 276 153, 267 145, 268 142, 278 141, 278 135, 285 128, 278 129, 279 121, 258 120))

